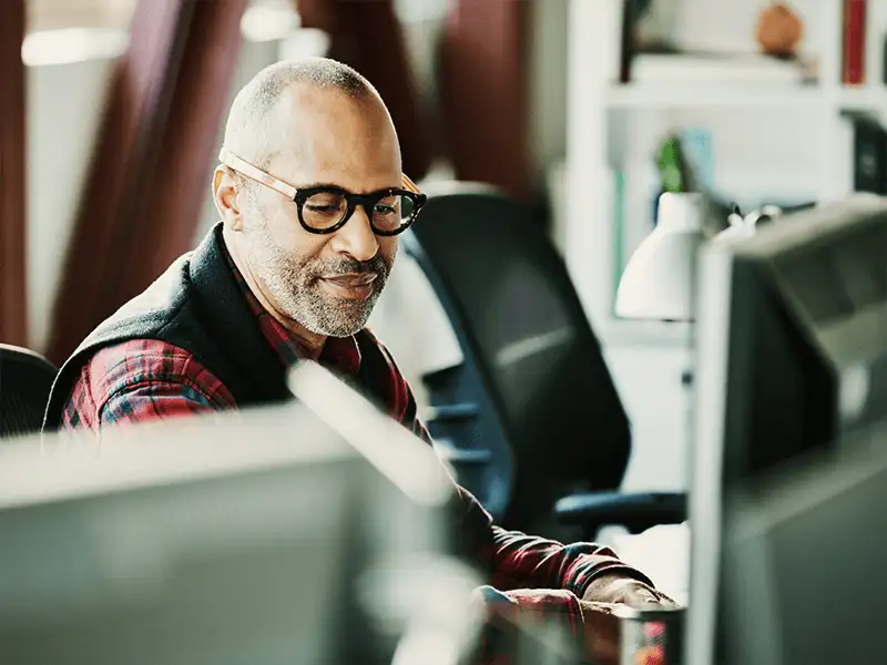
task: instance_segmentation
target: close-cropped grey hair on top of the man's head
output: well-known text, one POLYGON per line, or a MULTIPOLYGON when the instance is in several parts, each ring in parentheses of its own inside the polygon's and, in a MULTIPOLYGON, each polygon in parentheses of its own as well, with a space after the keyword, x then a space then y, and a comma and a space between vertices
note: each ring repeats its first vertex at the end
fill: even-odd
MULTIPOLYGON (((234 99, 225 125, 224 145, 261 168, 294 139, 300 114, 317 111, 317 95, 339 98, 365 108, 387 110, 373 84, 360 73, 328 58, 306 58, 272 64, 234 99)), ((368 110, 368 109, 365 109, 368 110)), ((324 110, 328 111, 328 110, 324 110)))

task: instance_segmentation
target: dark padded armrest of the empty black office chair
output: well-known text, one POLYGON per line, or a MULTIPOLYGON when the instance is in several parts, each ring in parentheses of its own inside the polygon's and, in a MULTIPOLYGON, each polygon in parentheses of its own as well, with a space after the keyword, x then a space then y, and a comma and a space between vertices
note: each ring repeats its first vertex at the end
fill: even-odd
POLYGON ((613 524, 640 533, 686 520, 686 494, 679 492, 583 492, 558 500, 558 521, 597 529, 613 524))

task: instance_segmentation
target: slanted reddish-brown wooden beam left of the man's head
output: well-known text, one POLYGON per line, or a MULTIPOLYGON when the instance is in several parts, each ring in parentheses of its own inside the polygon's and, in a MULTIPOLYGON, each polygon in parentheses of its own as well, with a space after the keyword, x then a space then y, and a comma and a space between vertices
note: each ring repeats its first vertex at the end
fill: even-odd
POLYGON ((245 7, 139 1, 53 310, 57 362, 191 244, 245 7))

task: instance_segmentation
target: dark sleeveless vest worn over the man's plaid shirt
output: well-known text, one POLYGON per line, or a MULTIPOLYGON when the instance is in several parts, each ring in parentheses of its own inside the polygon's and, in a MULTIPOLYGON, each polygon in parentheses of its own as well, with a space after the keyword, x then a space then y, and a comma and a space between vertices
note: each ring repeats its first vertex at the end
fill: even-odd
MULTIPOLYGON (((64 362, 50 392, 43 431, 61 424, 81 368, 100 349, 131 339, 160 339, 190 351, 231 391, 237 406, 281 402, 292 397, 286 368, 259 329, 223 249, 217 224, 193 252, 173 263, 145 291, 93 330, 64 362)), ((360 371, 354 383, 379 405, 387 402, 379 378, 389 360, 366 332, 356 336, 360 371)))

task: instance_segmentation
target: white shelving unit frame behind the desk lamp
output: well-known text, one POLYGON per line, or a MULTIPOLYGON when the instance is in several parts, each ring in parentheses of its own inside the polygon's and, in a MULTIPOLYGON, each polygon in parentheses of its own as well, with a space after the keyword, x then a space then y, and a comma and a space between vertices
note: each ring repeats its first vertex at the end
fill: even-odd
POLYGON ((845 180, 835 177, 846 163, 842 111, 887 114, 887 88, 845 88, 839 83, 842 1, 822 0, 816 35, 817 84, 613 83, 619 63, 622 0, 570 0, 568 60, 568 192, 564 257, 577 289, 604 344, 686 346, 690 326, 629 321, 612 315, 615 293, 614 201, 610 160, 613 114, 674 109, 791 109, 813 114, 818 126, 816 193, 819 200, 843 197, 845 180), (581 196, 570 196, 581 192, 581 196), (589 202, 594 202, 591 204, 589 202))

